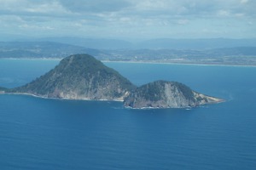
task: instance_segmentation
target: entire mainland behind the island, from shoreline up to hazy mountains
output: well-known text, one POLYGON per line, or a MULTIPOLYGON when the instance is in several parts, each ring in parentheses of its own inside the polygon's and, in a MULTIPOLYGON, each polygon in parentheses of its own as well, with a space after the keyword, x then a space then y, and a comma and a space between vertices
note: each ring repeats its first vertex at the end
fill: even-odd
POLYGON ((256 39, 156 39, 137 43, 137 48, 131 42, 108 39, 49 40, 55 42, 0 42, 0 58, 62 59, 72 54, 90 54, 110 61, 256 65, 256 39))

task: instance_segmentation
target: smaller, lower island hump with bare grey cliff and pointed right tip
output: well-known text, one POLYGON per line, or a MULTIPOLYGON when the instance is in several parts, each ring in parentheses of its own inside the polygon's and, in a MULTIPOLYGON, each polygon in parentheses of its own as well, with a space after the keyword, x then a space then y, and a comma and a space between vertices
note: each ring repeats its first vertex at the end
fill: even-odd
POLYGON ((186 108, 218 103, 222 99, 198 94, 179 82, 157 81, 136 88, 125 100, 131 108, 186 108))

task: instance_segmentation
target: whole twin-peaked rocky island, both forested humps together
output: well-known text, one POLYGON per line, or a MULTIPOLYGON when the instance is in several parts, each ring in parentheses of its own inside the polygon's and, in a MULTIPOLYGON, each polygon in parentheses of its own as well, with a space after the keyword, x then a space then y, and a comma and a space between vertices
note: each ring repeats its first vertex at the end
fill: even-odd
POLYGON ((0 91, 52 99, 116 100, 137 109, 186 108, 224 101, 199 94, 180 82, 156 81, 137 88, 89 54, 71 55, 44 76, 0 91))

